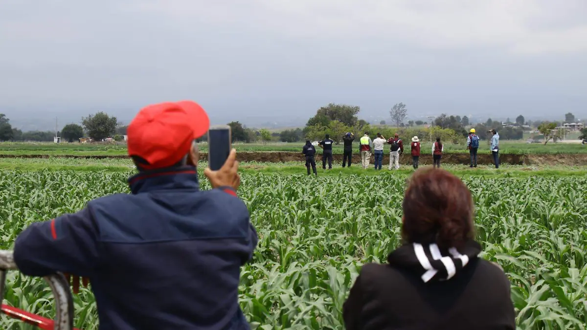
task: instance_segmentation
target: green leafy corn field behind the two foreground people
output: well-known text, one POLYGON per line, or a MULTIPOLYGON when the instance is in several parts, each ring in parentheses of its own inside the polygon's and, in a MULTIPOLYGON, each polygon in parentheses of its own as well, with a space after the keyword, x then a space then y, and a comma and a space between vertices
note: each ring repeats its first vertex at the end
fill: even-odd
MULTIPOLYGON (((33 221, 127 192, 129 173, 0 171, 0 248, 33 221)), ((342 305, 365 262, 400 243, 407 176, 242 176, 239 196, 259 234, 241 271, 239 302, 252 328, 343 329, 342 305)), ((587 178, 463 179, 474 196, 482 257, 512 283, 519 329, 585 329, 587 178)), ((203 189, 210 188, 201 180, 203 189)), ((43 280, 9 272, 4 303, 52 317, 43 280)), ((97 329, 89 289, 74 296, 75 326, 97 329)), ((2 316, 2 329, 30 329, 2 316)))

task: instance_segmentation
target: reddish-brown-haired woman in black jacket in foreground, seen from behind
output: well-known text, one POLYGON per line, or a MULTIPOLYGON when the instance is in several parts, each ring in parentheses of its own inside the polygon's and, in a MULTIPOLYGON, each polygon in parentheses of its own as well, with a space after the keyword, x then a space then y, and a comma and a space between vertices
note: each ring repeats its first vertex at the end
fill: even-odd
POLYGON ((403 200, 403 245, 366 264, 343 307, 346 329, 514 330, 510 281, 478 257, 473 198, 445 170, 420 169, 403 200))

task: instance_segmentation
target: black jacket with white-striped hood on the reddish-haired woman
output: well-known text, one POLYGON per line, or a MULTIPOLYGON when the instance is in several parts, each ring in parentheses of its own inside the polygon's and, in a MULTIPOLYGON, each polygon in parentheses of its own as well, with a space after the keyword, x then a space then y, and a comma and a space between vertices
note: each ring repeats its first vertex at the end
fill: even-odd
POLYGON ((459 251, 414 243, 366 264, 343 307, 346 329, 514 330, 510 281, 480 252, 474 241, 459 251))

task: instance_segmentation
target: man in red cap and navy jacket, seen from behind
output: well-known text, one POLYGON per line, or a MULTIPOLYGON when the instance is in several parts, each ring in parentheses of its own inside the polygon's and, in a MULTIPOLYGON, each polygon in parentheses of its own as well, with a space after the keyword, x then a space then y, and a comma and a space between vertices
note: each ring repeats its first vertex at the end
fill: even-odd
POLYGON ((89 278, 100 329, 248 329, 239 272, 258 238, 237 197, 234 149, 204 171, 212 190, 199 190, 194 141, 209 123, 194 102, 142 109, 128 129, 131 194, 30 225, 16 238, 19 270, 89 278))

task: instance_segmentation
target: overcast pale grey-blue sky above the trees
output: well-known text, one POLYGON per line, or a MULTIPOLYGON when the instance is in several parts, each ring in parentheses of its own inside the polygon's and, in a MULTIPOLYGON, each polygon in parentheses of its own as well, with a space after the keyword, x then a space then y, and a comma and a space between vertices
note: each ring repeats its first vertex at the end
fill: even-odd
POLYGON ((587 119, 585 0, 2 0, 0 113, 21 127, 191 99, 212 123, 587 119))

